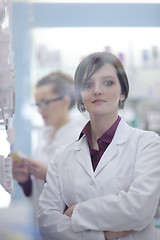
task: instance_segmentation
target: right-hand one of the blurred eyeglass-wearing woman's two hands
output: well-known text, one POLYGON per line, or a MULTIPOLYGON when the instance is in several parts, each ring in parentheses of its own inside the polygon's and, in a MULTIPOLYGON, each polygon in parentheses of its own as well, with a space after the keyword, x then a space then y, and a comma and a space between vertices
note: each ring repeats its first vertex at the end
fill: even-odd
POLYGON ((26 158, 26 165, 30 174, 32 174, 36 178, 46 181, 46 174, 48 169, 47 164, 35 161, 31 158, 26 158))

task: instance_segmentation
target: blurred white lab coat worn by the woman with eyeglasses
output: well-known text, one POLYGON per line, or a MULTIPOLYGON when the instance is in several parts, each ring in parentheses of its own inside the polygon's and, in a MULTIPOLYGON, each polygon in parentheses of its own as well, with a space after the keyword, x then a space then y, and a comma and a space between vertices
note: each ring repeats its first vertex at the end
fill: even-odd
MULTIPOLYGON (((42 134, 40 134, 39 144, 33 154, 33 159, 39 162, 44 162, 49 164, 50 160, 53 158, 55 151, 69 142, 76 141, 79 137, 81 126, 77 125, 76 122, 70 121, 63 125, 55 134, 53 140, 51 136, 53 134, 52 127, 44 127, 42 134)), ((30 202, 33 206, 34 224, 37 227, 37 206, 39 201, 39 196, 42 192, 44 181, 32 176, 32 195, 30 197, 30 202)), ((39 237, 38 237, 39 240, 39 237)))

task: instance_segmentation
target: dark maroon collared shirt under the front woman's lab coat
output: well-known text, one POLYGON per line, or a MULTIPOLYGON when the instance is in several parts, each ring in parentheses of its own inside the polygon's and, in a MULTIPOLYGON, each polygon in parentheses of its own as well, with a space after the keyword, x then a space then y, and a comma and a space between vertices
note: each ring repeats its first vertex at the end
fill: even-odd
POLYGON ((99 150, 93 149, 92 144, 91 144, 91 131, 90 131, 90 121, 85 125, 83 128, 80 138, 85 134, 88 145, 89 145, 89 150, 90 150, 90 155, 91 155, 91 160, 92 160, 92 166, 93 170, 95 171, 104 151, 108 147, 108 145, 112 142, 112 139, 114 137, 115 131, 117 129, 117 126, 120 122, 121 118, 118 116, 117 120, 115 123, 99 138, 97 139, 98 147, 99 150))

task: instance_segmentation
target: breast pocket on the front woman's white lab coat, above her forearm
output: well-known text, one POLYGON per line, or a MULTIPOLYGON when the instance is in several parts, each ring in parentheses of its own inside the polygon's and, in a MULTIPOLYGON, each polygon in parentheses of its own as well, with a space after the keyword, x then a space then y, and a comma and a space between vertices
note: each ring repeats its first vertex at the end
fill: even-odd
POLYGON ((121 191, 128 192, 131 182, 132 176, 115 177, 112 181, 114 193, 118 195, 121 191))

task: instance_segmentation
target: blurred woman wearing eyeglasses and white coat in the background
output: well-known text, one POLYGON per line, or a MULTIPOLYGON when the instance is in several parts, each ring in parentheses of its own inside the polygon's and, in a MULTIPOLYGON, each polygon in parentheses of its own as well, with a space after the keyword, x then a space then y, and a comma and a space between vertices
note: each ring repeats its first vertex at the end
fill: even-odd
POLYGON ((36 223, 38 199, 46 181, 49 161, 57 148, 77 140, 80 126, 70 119, 75 95, 73 79, 69 75, 53 72, 39 80, 35 101, 45 127, 33 159, 19 156, 20 162, 13 161, 13 177, 21 185, 24 194, 32 200, 36 223))

